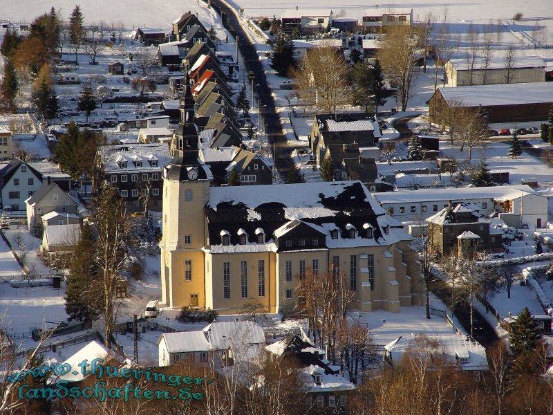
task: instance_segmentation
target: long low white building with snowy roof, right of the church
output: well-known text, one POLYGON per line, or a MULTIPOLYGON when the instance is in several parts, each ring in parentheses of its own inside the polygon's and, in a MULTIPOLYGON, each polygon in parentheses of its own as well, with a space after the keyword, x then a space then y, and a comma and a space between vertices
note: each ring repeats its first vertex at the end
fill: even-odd
POLYGON ((528 185, 400 190, 373 196, 400 221, 424 221, 451 201, 474 203, 480 214, 503 219, 509 226, 534 229, 547 223, 547 196, 528 185))

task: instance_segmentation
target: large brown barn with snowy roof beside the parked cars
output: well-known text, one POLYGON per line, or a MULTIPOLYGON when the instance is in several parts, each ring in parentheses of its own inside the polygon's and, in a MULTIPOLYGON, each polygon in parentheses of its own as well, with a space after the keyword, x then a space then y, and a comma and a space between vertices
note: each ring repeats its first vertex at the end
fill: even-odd
POLYGON ((456 86, 435 91, 429 120, 440 124, 447 109, 480 107, 489 123, 540 121, 547 120, 552 105, 553 82, 456 86))

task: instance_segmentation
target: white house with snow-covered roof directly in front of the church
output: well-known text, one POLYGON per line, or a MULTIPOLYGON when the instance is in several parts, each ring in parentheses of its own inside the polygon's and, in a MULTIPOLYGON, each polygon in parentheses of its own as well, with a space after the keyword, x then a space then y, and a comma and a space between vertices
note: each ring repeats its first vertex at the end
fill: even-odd
POLYGON ((214 322, 198 331, 163 333, 158 340, 159 365, 187 361, 223 367, 232 344, 265 344, 265 334, 250 321, 214 322))

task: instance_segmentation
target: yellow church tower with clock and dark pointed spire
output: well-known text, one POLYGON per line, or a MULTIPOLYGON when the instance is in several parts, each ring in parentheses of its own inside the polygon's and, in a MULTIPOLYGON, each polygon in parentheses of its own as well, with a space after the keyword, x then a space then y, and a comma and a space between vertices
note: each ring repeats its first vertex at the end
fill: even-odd
POLYGON ((205 306, 205 215, 212 174, 198 158, 198 128, 188 75, 173 136, 173 160, 163 172, 161 289, 165 306, 205 306))

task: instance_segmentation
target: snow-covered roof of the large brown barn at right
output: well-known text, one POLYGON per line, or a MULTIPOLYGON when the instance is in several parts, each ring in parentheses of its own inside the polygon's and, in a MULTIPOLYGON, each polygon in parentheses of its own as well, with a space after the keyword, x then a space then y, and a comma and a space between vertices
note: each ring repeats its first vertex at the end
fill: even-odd
POLYGON ((453 86, 438 91, 459 107, 517 105, 553 102, 553 82, 453 86))

